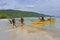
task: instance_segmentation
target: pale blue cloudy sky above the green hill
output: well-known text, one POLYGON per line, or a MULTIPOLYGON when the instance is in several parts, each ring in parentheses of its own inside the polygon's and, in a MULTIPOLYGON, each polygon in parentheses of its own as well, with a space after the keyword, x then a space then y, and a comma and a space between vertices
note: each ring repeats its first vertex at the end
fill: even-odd
POLYGON ((60 16, 60 0, 0 0, 0 9, 15 9, 60 16))

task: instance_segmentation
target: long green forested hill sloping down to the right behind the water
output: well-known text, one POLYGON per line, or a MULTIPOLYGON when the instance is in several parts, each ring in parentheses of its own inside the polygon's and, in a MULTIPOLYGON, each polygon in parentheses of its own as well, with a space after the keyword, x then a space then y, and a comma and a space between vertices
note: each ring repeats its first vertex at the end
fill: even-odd
POLYGON ((44 14, 39 14, 36 12, 27 12, 19 10, 0 10, 0 18, 18 18, 18 17, 40 17, 40 16, 49 16, 44 14))

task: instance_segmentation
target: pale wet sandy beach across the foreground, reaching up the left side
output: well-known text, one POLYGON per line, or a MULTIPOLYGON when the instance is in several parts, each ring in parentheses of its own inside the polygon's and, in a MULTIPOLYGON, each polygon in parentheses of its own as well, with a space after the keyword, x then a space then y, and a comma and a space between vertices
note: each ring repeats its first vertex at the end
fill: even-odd
POLYGON ((18 26, 13 29, 8 19, 2 19, 0 20, 0 40, 60 40, 60 30, 30 26, 18 26))

